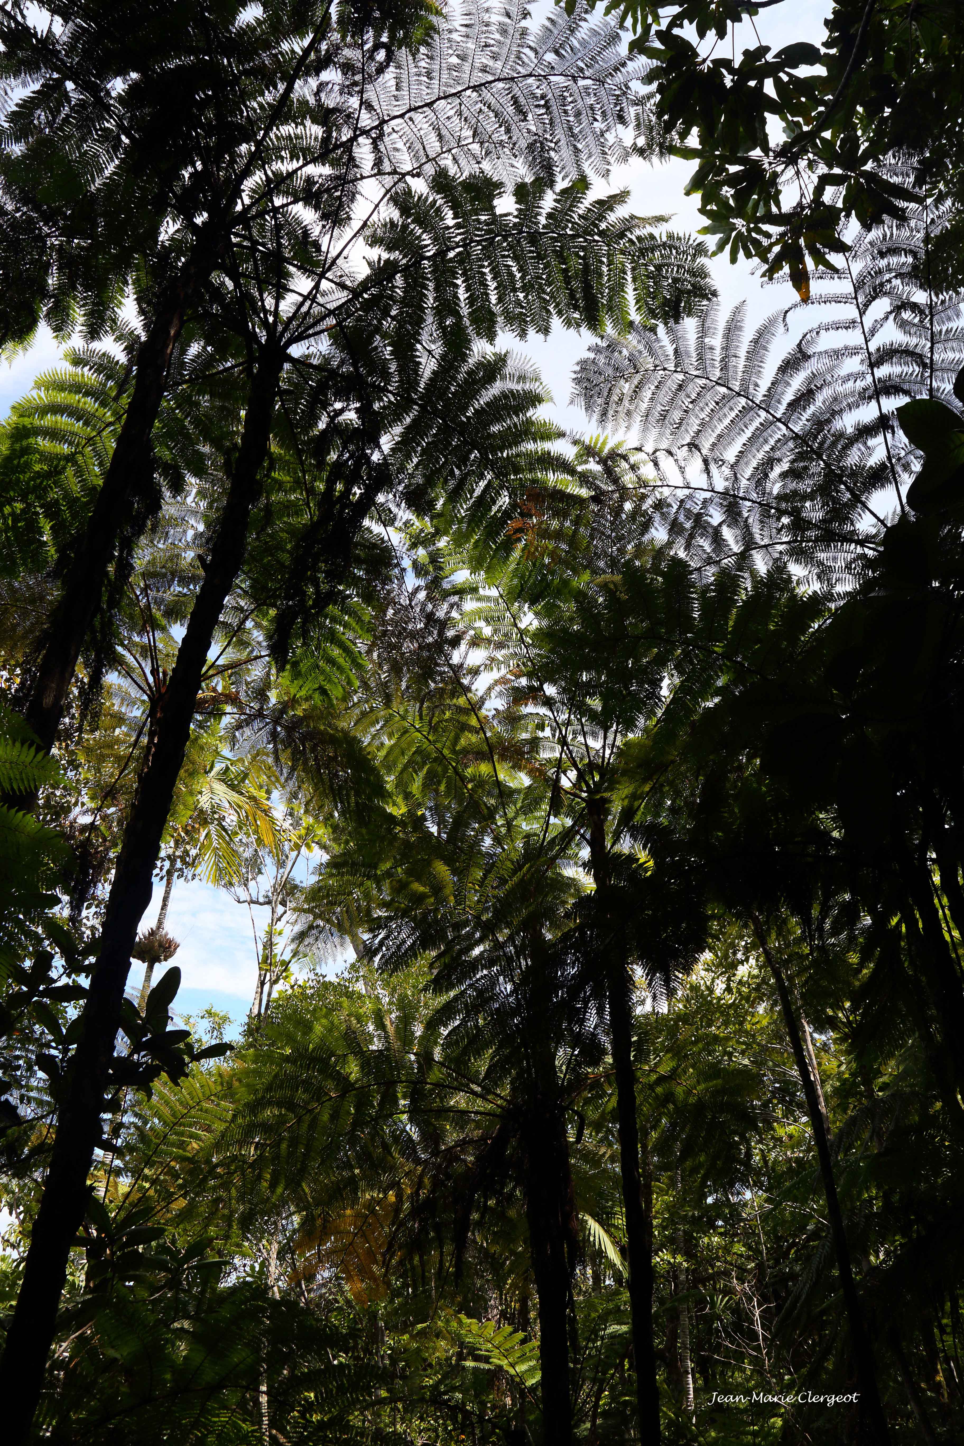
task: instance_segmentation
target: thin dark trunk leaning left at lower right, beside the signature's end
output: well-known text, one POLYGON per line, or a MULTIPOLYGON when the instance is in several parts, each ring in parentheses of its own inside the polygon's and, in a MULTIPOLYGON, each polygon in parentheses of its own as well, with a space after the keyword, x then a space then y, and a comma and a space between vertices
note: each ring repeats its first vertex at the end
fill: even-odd
POLYGON ((830 1155, 830 1139, 824 1128, 824 1113, 819 1108, 819 1098, 817 1092, 817 1083, 811 1073, 811 1064, 806 1057, 806 1050, 804 1047, 804 1040, 801 1038, 801 1031, 796 1024, 796 1015, 793 1014, 793 1005, 791 1001, 791 993, 786 986, 786 979, 776 962, 776 956, 769 946, 766 931, 763 924, 756 915, 752 915, 753 931, 756 933, 760 951, 767 963, 767 967, 773 976, 773 983, 776 985, 776 992, 780 1001, 780 1009, 783 1012, 783 1024, 786 1025, 786 1032, 791 1040, 791 1048, 793 1050, 793 1060, 796 1061, 796 1070, 801 1077, 801 1084, 804 1086, 804 1096, 806 1099, 806 1111, 809 1113, 811 1129, 814 1132, 814 1142, 817 1145, 817 1158, 819 1161, 819 1173, 824 1183, 824 1194, 827 1196, 827 1216, 830 1219, 830 1233, 834 1242, 834 1254, 837 1257, 837 1275, 840 1277, 840 1288, 844 1297, 844 1309, 847 1312, 847 1323, 850 1326, 850 1345, 854 1353, 854 1365, 857 1369, 857 1390, 860 1392, 858 1404, 858 1439, 866 1443, 873 1443, 873 1446, 889 1446, 890 1432, 887 1427, 887 1420, 883 1414, 883 1406, 880 1403, 880 1391, 877 1390, 877 1372, 874 1368, 873 1348, 870 1345, 870 1336, 867 1335, 867 1326, 864 1323, 863 1310, 860 1307, 860 1296, 857 1294, 857 1283, 854 1280, 853 1265, 850 1259, 850 1246, 847 1244, 847 1232, 844 1229, 844 1216, 840 1207, 840 1197, 837 1194, 837 1181, 834 1178, 834 1164, 830 1155))

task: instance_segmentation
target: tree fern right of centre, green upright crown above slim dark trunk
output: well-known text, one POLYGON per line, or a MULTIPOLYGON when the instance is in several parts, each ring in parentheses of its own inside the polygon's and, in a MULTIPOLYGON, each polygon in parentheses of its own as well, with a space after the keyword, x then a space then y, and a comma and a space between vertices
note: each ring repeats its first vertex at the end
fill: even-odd
MULTIPOLYGON (((685 633, 685 584, 659 567, 659 509, 647 480, 620 451, 577 448, 582 497, 569 516, 552 503, 517 519, 507 561, 475 545, 478 645, 503 671, 530 766, 551 790, 549 811, 584 849, 591 907, 580 905, 587 966, 601 991, 617 1095, 639 1430, 660 1436, 653 1338, 653 1219, 640 1158, 633 1064, 634 973, 672 986, 702 947, 695 881, 672 866, 646 878, 630 863, 627 826, 613 803, 627 737, 649 729, 671 693, 685 633), (672 622, 666 622, 669 613, 672 622)), ((688 578, 685 565, 678 570, 688 578)), ((549 824, 546 824, 549 829, 549 824)), ((650 860, 652 863, 652 860, 650 860)))

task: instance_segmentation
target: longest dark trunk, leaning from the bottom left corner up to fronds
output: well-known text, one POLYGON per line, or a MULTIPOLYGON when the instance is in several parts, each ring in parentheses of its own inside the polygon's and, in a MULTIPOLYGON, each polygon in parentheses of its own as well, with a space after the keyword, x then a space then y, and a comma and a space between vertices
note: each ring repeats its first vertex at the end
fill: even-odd
POLYGON ((262 493, 262 469, 270 444, 280 364, 280 356, 273 351, 263 353, 259 360, 208 567, 160 700, 153 746, 124 827, 100 953, 84 1004, 82 1034, 66 1069, 51 1167, 0 1359, 7 1446, 26 1443, 43 1385, 69 1254, 90 1197, 87 1180, 94 1151, 103 1141, 101 1113, 130 951, 150 902, 160 836, 191 736, 208 649, 241 567, 251 509, 262 493))

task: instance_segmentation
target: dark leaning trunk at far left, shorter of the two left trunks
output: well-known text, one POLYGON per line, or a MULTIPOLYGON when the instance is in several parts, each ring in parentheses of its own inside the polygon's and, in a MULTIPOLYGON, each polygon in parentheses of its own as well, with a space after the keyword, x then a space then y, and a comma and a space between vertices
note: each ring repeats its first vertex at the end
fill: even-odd
MULTIPOLYGON (((46 752, 53 746, 77 661, 101 604, 117 547, 121 539, 130 545, 158 509, 150 434, 188 307, 215 263, 212 250, 195 249, 163 292, 137 351, 134 386, 110 466, 51 616, 46 646, 23 710, 46 752)), ((17 800, 19 807, 33 807, 35 803, 33 797, 17 800)))

